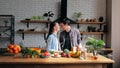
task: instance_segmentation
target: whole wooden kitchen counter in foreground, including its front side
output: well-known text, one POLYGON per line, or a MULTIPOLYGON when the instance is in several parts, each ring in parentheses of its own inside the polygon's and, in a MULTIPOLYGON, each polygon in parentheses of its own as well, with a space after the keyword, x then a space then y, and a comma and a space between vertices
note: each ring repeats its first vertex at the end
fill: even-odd
POLYGON ((0 56, 0 68, 107 68, 114 61, 101 55, 97 60, 79 58, 17 58, 0 56))

